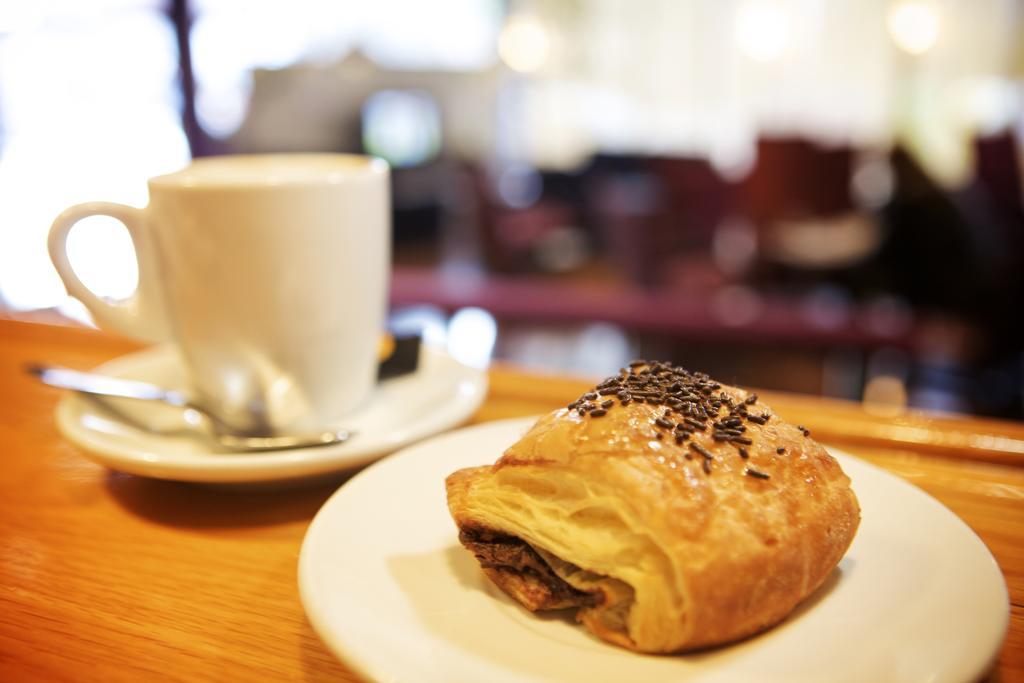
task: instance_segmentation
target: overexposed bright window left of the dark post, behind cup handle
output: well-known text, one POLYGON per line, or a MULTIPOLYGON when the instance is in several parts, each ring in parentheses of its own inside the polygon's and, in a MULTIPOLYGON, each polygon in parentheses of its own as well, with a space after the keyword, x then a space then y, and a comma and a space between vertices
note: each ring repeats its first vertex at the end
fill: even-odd
MULTIPOLYGON (((90 200, 142 206, 147 177, 187 162, 163 5, 0 3, 0 305, 65 299, 46 255, 62 209, 90 200)), ((134 289, 131 245, 114 219, 83 222, 70 251, 97 293, 134 289)))

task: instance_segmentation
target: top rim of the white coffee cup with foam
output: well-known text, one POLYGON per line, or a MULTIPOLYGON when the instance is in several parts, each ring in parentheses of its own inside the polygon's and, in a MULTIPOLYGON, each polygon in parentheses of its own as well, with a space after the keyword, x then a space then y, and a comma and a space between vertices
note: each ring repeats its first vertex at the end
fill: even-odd
POLYGON ((165 187, 248 188, 344 184, 354 179, 384 176, 386 161, 370 155, 288 153, 200 157, 172 173, 150 178, 165 187), (229 168, 237 169, 232 173, 229 168))

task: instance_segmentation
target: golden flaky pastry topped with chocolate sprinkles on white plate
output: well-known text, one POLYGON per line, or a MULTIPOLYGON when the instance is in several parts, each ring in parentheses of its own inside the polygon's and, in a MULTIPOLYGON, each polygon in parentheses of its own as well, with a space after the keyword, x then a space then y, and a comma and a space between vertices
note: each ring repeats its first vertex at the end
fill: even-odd
POLYGON ((786 616, 849 548, 850 480, 756 394, 637 361, 446 479, 459 539, 529 610, 643 652, 786 616))

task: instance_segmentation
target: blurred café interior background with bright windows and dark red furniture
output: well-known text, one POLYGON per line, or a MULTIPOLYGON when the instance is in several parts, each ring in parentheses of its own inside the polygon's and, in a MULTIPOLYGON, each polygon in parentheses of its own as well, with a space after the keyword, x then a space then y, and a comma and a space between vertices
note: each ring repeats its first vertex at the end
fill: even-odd
MULTIPOLYGON (((1024 419, 1020 0, 4 0, 0 314, 193 157, 394 174, 392 325, 1024 419)), ((124 228, 76 270, 131 293, 124 228)))

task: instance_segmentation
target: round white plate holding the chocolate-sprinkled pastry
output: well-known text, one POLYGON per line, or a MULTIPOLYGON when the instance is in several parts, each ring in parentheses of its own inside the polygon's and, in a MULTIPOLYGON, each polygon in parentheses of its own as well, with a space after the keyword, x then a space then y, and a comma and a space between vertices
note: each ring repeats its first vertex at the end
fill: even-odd
POLYGON ((302 546, 313 628, 377 681, 964 683, 1008 624, 1002 574, 955 515, 905 481, 835 453, 862 506, 825 585, 781 625, 695 654, 635 654, 570 620, 530 614, 459 545, 444 476, 493 462, 532 423, 494 422, 403 450, 350 479, 302 546))

